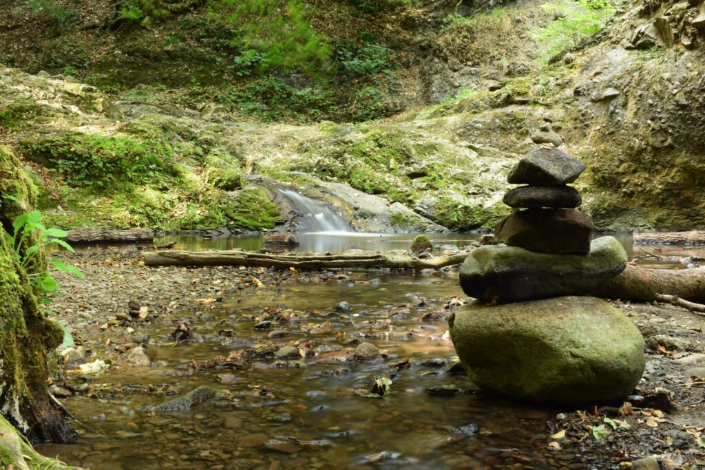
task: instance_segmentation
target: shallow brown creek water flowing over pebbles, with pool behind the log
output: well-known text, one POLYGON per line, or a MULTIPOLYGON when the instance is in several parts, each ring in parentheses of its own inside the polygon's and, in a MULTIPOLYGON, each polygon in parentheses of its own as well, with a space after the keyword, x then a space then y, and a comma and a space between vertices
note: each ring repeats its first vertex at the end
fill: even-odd
MULTIPOLYGON (((335 251, 350 245, 407 248, 412 237, 395 235, 367 246, 367 240, 375 237, 348 237, 336 242, 345 246, 335 251)), ((259 248, 257 240, 233 238, 178 241, 185 249, 259 248)), ((458 245, 473 238, 434 235, 436 242, 458 245)), ((158 240, 167 241, 171 239, 158 240)), ((300 249, 312 248, 302 242, 300 249)), ((635 253, 631 247, 629 251, 635 253)), ((666 259, 658 267, 673 267, 674 262, 666 259)), ((432 309, 442 310, 443 297, 464 297, 457 273, 337 273, 346 273, 349 279, 292 283, 223 299, 219 309, 204 310, 198 321, 191 322, 202 342, 173 347, 168 338, 173 327, 147 330, 154 366, 113 367, 93 382, 98 399, 66 399, 66 407, 80 419, 82 437, 73 445, 42 445, 39 450, 94 470, 594 468, 586 456, 546 450, 546 421, 559 410, 483 397, 467 376, 443 373, 443 362, 455 355, 452 343, 444 338, 446 323, 419 319, 432 309), (411 292, 429 302, 410 306, 411 292), (350 313, 334 311, 341 301, 350 302, 350 313), (253 329, 252 317, 277 306, 301 312, 301 319, 282 326, 287 336, 267 340, 269 332, 253 329), (305 333, 303 323, 318 328, 305 333), (221 330, 232 330, 231 337, 223 338, 221 330), (355 346, 345 345, 341 338, 372 342, 386 357, 343 361, 355 346), (295 361, 247 360, 243 369, 189 371, 193 359, 212 359, 259 340, 278 345, 305 340, 317 355, 295 361), (411 361, 410 369, 390 367, 405 358, 411 361), (441 359, 437 364, 424 362, 436 358, 441 359), (223 374, 234 377, 222 383, 223 374), (383 375, 394 378, 386 397, 357 393, 369 390, 371 381, 383 375), (185 412, 138 410, 200 385, 226 395, 185 412), (428 392, 444 385, 461 391, 452 396, 428 392), (479 427, 479 433, 472 437, 453 433, 470 423, 479 427), (266 445, 267 440, 288 438, 303 442, 279 448, 266 445)))

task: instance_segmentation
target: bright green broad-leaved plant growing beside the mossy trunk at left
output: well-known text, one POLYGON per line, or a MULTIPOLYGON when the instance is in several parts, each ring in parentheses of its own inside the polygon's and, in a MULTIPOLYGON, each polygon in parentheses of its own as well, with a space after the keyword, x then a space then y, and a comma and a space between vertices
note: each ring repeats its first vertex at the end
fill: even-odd
MULTIPOLYGON (((46 228, 42 223, 42 214, 39 211, 22 214, 15 219, 12 228, 13 234, 8 235, 8 241, 13 248, 13 255, 20 266, 25 269, 35 265, 37 254, 43 255, 45 249, 50 245, 59 245, 73 252, 71 245, 61 240, 68 234, 58 228, 46 228)), ((71 264, 65 264, 59 258, 49 259, 49 265, 56 271, 72 273, 79 278, 85 277, 83 273, 78 271, 78 268, 71 266, 71 264)), ((51 276, 51 272, 47 268, 30 273, 28 276, 35 295, 48 307, 51 304, 51 299, 47 295, 59 288, 56 279, 51 276)))

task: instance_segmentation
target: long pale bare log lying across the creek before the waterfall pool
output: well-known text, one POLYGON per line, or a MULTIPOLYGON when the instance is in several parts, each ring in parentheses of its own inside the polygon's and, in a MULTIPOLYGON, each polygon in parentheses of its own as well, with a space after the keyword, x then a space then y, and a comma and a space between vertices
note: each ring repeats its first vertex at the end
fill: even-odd
POLYGON ((264 266, 281 269, 328 269, 328 268, 411 268, 439 269, 453 264, 462 264, 470 252, 449 256, 419 259, 405 249, 396 249, 384 254, 264 254, 232 249, 224 251, 204 250, 145 252, 142 257, 147 266, 264 266))

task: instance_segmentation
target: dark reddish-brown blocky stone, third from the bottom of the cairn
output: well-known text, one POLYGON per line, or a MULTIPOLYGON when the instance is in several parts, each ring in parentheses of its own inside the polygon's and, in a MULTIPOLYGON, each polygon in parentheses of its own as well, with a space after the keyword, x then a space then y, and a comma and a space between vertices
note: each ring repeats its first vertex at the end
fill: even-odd
POLYGON ((500 243, 541 253, 587 254, 595 225, 575 209, 526 209, 497 224, 500 243))

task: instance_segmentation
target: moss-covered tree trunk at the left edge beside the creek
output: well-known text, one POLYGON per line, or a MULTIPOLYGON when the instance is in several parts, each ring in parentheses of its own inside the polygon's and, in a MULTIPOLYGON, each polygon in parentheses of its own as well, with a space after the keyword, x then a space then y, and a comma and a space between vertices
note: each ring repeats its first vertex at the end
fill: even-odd
MULTIPOLYGON (((20 161, 0 146, 0 196, 13 197, 1 199, 2 227, 11 230, 8 224, 11 227, 13 218, 34 206, 36 194, 20 161)), ((63 331, 39 309, 4 228, 0 228, 0 413, 31 440, 70 442, 78 435, 54 407, 47 389, 47 354, 61 344, 63 331)), ((36 258, 30 268, 44 270, 44 258, 36 258)))

